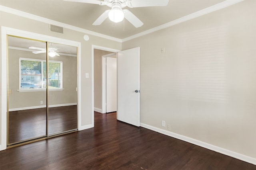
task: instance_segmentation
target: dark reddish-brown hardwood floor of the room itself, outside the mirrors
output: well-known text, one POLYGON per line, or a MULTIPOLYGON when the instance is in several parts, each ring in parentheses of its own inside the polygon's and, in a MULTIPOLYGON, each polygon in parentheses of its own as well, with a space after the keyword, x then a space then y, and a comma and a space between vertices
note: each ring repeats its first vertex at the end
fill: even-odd
POLYGON ((0 170, 256 170, 256 165, 94 113, 94 128, 0 151, 0 170))

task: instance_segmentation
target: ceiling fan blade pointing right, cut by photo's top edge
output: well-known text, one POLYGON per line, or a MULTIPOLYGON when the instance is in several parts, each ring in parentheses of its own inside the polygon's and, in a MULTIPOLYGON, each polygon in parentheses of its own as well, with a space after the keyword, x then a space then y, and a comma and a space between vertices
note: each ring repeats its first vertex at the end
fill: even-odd
POLYGON ((146 6, 167 6, 169 0, 131 0, 127 6, 130 8, 146 6))

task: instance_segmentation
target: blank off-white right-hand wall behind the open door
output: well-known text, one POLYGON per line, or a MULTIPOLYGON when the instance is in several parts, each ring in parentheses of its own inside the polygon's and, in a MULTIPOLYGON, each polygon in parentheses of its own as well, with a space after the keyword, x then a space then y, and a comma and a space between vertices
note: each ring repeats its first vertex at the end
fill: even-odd
POLYGON ((239 2, 122 43, 140 47, 142 124, 170 124, 171 133, 256 164, 255 9, 256 1, 239 2))

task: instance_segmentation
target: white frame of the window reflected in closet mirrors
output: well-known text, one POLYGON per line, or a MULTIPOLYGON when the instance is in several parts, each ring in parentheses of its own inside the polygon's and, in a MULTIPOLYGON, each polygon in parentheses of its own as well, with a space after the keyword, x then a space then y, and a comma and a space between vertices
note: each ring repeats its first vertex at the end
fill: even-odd
MULTIPOLYGON (((26 89, 21 89, 21 60, 26 60, 26 61, 40 61, 40 62, 46 62, 46 60, 40 60, 40 59, 30 59, 30 58, 19 58, 19 89, 17 91, 19 92, 35 92, 35 91, 46 91, 46 88, 26 88, 26 89)), ((48 90, 50 91, 60 91, 64 90, 63 89, 63 66, 62 66, 62 61, 48 61, 48 63, 60 63, 60 88, 49 88, 48 90)), ((43 64, 41 64, 41 75, 43 75, 42 70, 43 70, 43 64)), ((41 76, 41 84, 43 87, 43 76, 41 76)))

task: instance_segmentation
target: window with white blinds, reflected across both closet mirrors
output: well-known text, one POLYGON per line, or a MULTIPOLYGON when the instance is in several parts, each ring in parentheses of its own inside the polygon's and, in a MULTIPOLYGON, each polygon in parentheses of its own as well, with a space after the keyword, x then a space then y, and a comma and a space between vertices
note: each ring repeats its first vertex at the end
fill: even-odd
MULTIPOLYGON (((20 88, 46 88, 46 61, 20 58, 20 88)), ((62 88, 62 61, 48 62, 48 88, 62 88)))

